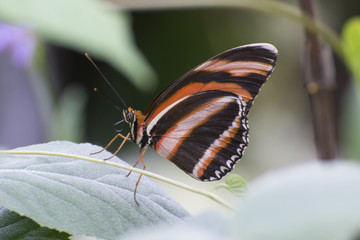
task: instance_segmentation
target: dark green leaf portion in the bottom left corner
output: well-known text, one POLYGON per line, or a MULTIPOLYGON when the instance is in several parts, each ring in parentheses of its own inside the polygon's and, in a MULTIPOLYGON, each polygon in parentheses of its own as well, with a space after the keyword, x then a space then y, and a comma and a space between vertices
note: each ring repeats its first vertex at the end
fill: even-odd
POLYGON ((30 218, 0 206, 0 239, 2 240, 67 240, 69 236, 64 232, 41 227, 30 218))

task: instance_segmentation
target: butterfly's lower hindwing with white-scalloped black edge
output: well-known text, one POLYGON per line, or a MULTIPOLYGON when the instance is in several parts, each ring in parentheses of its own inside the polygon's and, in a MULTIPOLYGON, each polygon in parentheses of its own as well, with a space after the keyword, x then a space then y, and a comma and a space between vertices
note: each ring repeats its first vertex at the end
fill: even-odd
POLYGON ((246 105, 236 94, 195 93, 159 120, 151 132, 153 147, 197 179, 220 179, 247 145, 246 114, 246 105))

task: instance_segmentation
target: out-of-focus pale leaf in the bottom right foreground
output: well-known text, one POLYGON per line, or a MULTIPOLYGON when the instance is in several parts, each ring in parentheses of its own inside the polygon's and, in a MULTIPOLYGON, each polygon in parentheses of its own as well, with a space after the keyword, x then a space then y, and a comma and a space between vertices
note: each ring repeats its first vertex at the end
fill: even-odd
POLYGON ((360 166, 312 162, 269 172, 249 185, 232 229, 237 239, 355 239, 360 166))

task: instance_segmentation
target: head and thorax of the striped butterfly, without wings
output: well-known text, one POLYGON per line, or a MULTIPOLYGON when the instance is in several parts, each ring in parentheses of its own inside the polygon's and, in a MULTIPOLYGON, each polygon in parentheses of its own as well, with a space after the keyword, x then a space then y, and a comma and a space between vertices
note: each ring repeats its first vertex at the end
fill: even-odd
POLYGON ((151 143, 151 137, 148 136, 144 123, 145 115, 141 111, 134 110, 131 107, 124 109, 124 120, 130 125, 130 138, 139 145, 140 150, 147 148, 151 143))

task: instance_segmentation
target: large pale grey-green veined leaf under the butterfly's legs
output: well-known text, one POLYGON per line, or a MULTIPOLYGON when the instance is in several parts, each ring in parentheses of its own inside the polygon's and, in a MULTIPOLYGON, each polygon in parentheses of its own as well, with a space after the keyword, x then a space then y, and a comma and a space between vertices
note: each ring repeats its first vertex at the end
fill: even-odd
MULTIPOLYGON (((91 144, 51 142, 17 150, 89 156, 91 144)), ((96 155, 102 159, 109 152, 96 155)), ((115 161, 120 161, 114 158, 115 161)), ((83 160, 43 155, 0 155, 0 205, 41 226, 72 235, 112 239, 140 226, 182 221, 188 213, 148 178, 83 160)))

